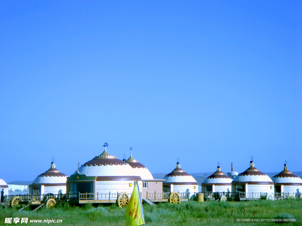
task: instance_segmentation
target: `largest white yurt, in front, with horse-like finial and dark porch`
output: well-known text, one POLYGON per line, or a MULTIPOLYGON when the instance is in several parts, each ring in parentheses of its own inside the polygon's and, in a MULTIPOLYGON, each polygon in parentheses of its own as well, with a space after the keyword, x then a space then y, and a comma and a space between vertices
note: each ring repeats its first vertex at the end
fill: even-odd
POLYGON ((67 193, 98 193, 95 198, 102 199, 102 194, 132 193, 136 181, 141 189, 142 179, 138 173, 128 163, 110 155, 107 144, 104 146, 101 155, 81 165, 67 178, 67 193))

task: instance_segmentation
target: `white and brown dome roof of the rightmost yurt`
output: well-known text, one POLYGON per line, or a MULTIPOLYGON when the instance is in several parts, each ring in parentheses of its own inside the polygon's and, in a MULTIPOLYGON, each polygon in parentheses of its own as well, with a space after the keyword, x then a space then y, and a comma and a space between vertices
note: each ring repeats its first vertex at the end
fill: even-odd
POLYGON ((284 162, 284 170, 273 176, 275 184, 302 185, 302 179, 288 170, 287 162, 284 162))

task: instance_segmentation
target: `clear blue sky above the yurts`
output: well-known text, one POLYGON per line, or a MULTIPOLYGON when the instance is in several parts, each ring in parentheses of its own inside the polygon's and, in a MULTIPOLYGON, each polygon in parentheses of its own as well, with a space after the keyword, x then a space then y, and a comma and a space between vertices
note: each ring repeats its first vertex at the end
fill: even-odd
POLYGON ((103 151, 302 171, 301 1, 1 1, 0 177, 103 151))

